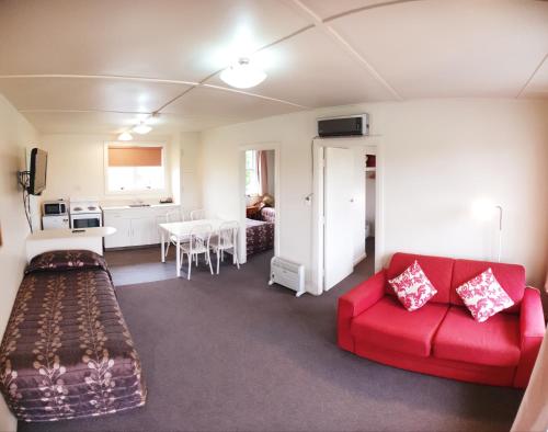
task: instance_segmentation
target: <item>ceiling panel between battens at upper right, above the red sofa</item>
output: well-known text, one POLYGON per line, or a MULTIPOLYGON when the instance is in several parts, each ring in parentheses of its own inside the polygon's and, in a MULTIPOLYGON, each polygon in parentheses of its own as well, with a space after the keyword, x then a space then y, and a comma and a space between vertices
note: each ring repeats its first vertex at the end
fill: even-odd
POLYGON ((540 1, 408 2, 330 24, 404 99, 513 98, 548 53, 540 1))

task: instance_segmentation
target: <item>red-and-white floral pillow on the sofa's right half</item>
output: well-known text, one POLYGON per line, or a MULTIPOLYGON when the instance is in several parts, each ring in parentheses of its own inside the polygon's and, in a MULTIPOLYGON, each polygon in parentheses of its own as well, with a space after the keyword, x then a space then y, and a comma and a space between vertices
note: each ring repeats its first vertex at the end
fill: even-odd
POLYGON ((488 320, 514 304, 494 277, 491 269, 487 269, 483 273, 460 285, 457 288, 457 294, 478 322, 488 320))

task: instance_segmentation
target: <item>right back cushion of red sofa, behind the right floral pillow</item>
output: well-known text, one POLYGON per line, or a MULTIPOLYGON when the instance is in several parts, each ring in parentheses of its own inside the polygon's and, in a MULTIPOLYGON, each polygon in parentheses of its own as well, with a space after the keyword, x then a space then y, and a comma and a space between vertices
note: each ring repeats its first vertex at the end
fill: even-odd
MULTIPOLYGON (((450 303, 456 306, 464 306, 463 299, 457 294, 456 289, 465 282, 470 281, 472 277, 476 277, 489 268, 493 271, 493 275, 496 281, 499 281, 502 288, 514 302, 514 306, 506 309, 505 312, 518 312, 523 293, 525 291, 525 269, 517 264, 455 260, 455 265, 453 268, 453 281, 450 283, 450 303)), ((429 274, 426 273, 426 275, 429 274)), ((434 281, 432 281, 432 283, 434 283, 434 281)), ((435 283, 434 286, 436 286, 435 283)))

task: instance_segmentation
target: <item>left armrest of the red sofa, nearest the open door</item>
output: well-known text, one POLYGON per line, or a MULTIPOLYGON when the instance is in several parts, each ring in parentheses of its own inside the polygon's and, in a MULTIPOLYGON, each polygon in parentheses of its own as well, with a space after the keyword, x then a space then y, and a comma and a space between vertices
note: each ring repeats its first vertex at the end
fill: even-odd
POLYGON ((386 271, 362 282, 339 298, 336 332, 339 346, 354 352, 354 339, 350 333, 352 319, 375 305, 385 295, 386 271))

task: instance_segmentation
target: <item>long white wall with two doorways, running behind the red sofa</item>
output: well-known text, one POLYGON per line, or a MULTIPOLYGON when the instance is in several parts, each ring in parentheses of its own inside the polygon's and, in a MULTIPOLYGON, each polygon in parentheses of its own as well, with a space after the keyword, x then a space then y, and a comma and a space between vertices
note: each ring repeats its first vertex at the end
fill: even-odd
MULTIPOLYGON (((396 251, 494 259, 489 224, 472 202, 505 209, 505 262, 540 286, 548 251, 548 104, 515 100, 423 100, 342 106, 263 118, 202 134, 206 208, 238 218, 238 148, 281 143, 281 255, 311 270, 310 144, 316 117, 368 112, 383 154, 384 261, 396 251)), ((495 221, 491 226, 494 228, 495 221)), ((377 236, 379 232, 377 232, 377 236)), ((309 286, 311 292, 313 287, 309 286)))

